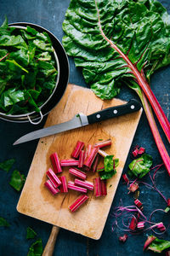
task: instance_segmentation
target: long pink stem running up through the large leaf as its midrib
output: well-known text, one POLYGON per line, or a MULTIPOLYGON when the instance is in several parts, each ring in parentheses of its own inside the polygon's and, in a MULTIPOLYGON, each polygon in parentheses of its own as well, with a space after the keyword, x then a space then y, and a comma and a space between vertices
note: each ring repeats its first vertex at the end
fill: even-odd
POLYGON ((157 119, 159 120, 161 127, 167 136, 168 142, 170 143, 170 124, 169 124, 169 121, 167 120, 167 117, 166 117, 165 113, 163 112, 159 102, 157 101, 156 96, 154 95, 153 91, 150 90, 150 85, 147 84, 146 79, 144 79, 144 76, 141 73, 139 73, 139 70, 129 60, 127 55, 125 55, 122 52, 122 50, 116 46, 116 44, 113 44, 111 39, 109 39, 105 36, 105 32, 103 31, 102 26, 101 26, 97 0, 95 0, 95 4, 96 4, 96 10, 97 10, 98 20, 99 20, 99 30, 100 30, 102 37, 105 39, 105 41, 107 41, 111 45, 111 48, 115 49, 116 52, 118 52, 119 55, 122 57, 122 59, 127 62, 127 67, 129 67, 132 70, 132 73, 133 73, 134 77, 136 78, 136 80, 138 81, 139 86, 144 91, 145 96, 147 96, 148 100, 150 101, 150 104, 156 113, 157 119))

